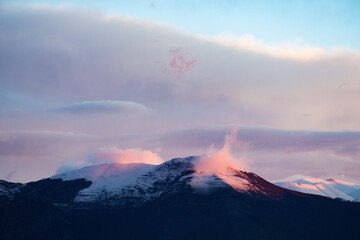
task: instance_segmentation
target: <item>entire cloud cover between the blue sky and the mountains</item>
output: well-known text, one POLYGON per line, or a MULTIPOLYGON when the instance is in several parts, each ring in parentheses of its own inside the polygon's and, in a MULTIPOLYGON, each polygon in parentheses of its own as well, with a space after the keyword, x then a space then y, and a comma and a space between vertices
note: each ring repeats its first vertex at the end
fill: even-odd
POLYGON ((233 152, 251 155, 259 174, 359 175, 358 52, 307 51, 300 40, 271 46, 250 35, 201 38, 68 7, 2 6, 0 22, 0 177, 47 177, 103 146, 161 147, 163 159, 204 154, 212 143, 220 149, 229 129, 206 126, 232 125, 244 126, 233 152), (174 70, 192 59, 177 78, 174 70), (158 114, 108 114, 143 108, 104 99, 158 114))

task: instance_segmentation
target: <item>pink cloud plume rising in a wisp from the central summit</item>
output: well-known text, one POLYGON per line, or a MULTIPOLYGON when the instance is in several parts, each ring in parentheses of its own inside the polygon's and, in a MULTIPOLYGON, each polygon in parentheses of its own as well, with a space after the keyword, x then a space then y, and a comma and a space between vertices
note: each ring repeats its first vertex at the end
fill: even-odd
POLYGON ((232 128, 226 135, 224 146, 217 152, 201 157, 195 164, 195 170, 202 173, 224 173, 228 167, 234 169, 247 169, 243 158, 235 158, 231 154, 231 146, 237 142, 237 127, 232 128))

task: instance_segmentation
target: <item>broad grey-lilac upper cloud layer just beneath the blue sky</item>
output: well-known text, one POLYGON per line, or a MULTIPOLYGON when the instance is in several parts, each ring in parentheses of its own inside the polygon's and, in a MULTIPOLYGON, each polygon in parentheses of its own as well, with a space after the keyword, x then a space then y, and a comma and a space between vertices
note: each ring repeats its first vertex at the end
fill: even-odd
POLYGON ((268 54, 248 35, 239 41, 249 43, 234 48, 155 23, 67 8, 2 7, 1 22, 2 88, 35 102, 41 96, 49 108, 121 97, 164 114, 179 106, 182 118, 199 124, 359 129, 356 52, 322 49, 322 57, 298 61, 268 54), (185 62, 196 60, 180 79, 174 49, 188 56, 185 62))

